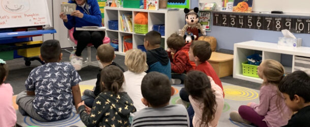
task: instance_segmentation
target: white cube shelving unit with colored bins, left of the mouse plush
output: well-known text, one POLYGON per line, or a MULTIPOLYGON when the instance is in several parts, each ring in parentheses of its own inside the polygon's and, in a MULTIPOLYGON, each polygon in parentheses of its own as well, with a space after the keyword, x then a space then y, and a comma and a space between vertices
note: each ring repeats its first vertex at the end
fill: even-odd
MULTIPOLYGON (((116 8, 116 7, 105 7, 104 8, 104 24, 107 28, 106 36, 112 39, 118 39, 118 51, 115 51, 116 54, 125 55, 125 52, 122 52, 122 36, 133 36, 133 48, 137 48, 138 45, 143 45, 145 34, 133 32, 122 31, 120 28, 119 17, 122 14, 132 14, 134 21, 135 15, 138 12, 147 12, 148 13, 148 31, 152 30, 153 25, 165 24, 165 36, 162 36, 162 40, 165 43, 165 49, 167 49, 166 40, 167 38, 182 29, 185 25, 185 14, 182 9, 179 10, 169 10, 169 9, 160 9, 160 10, 145 10, 145 9, 132 9, 132 8, 116 8), (118 30, 109 29, 109 20, 118 20, 118 30)), ((133 25, 134 27, 134 25, 133 25)))

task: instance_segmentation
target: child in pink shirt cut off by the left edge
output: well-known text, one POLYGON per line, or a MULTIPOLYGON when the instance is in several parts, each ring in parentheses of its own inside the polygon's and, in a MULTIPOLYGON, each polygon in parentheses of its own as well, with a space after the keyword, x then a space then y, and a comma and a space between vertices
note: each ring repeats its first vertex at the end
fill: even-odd
POLYGON ((14 126, 16 124, 16 112, 13 107, 13 88, 9 83, 4 83, 9 70, 6 62, 0 59, 0 126, 14 126))

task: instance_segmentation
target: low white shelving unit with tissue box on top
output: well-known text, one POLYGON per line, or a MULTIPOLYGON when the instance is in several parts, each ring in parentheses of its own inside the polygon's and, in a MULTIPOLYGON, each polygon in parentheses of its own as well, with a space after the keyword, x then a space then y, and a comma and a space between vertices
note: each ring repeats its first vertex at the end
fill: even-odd
POLYGON ((263 80, 256 77, 242 75, 241 63, 247 61, 246 56, 262 52, 262 59, 274 59, 281 62, 281 54, 292 55, 292 67, 285 67, 286 73, 292 73, 294 69, 295 56, 310 56, 310 47, 286 47, 278 46, 276 43, 247 41, 234 44, 234 69, 233 77, 247 81, 262 83, 263 80))

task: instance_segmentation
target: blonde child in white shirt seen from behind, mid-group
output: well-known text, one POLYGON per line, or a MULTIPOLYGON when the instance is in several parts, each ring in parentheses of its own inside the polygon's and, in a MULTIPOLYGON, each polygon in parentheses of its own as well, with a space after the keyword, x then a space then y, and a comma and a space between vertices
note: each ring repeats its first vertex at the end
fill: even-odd
POLYGON ((146 53, 140 49, 126 51, 125 65, 128 68, 128 71, 124 72, 126 82, 125 91, 133 100, 137 111, 140 111, 146 107, 141 102, 141 99, 143 98, 141 93, 141 82, 146 75, 144 71, 147 70, 146 53))

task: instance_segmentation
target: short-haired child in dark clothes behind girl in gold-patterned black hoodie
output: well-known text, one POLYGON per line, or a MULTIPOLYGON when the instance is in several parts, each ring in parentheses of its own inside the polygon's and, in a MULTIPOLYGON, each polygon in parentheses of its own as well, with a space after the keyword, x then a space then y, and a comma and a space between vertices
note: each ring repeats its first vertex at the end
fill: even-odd
MULTIPOLYGON (((100 60, 99 64, 100 64, 101 69, 107 66, 114 65, 118 67, 119 69, 121 69, 122 72, 124 72, 124 70, 117 63, 113 62, 113 59, 115 58, 115 54, 114 54, 114 48, 110 44, 100 45, 97 48, 96 58, 97 60, 100 60)), ((86 89, 83 92, 82 101, 84 101, 85 105, 90 108, 92 107, 92 104, 94 104, 95 98, 98 96, 99 93, 102 92, 100 89, 101 69, 99 70, 99 73, 97 74, 96 86, 94 88, 95 90, 86 89)))

